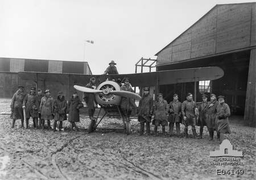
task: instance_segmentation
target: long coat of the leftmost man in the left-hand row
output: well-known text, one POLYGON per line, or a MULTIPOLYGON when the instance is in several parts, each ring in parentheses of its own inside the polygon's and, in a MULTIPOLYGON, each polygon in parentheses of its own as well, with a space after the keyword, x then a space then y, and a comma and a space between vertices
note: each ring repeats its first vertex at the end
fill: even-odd
POLYGON ((25 95, 16 91, 14 93, 13 98, 11 98, 11 119, 24 119, 23 117, 23 109, 22 103, 25 95))

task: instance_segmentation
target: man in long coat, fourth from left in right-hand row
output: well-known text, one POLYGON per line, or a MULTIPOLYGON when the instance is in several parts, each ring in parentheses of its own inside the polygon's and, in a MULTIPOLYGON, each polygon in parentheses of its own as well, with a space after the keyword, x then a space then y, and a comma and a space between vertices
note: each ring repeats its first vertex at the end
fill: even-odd
POLYGON ((193 95, 187 94, 187 100, 182 103, 181 112, 184 120, 184 133, 188 137, 188 125, 192 126, 193 138, 196 137, 196 103, 193 101, 193 95))

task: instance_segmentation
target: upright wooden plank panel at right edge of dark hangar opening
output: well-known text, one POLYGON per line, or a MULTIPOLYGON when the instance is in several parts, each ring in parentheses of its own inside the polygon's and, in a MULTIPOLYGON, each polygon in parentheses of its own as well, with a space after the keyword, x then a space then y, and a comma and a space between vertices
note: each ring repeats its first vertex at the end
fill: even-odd
POLYGON ((256 49, 251 50, 245 101, 245 125, 256 127, 256 49))

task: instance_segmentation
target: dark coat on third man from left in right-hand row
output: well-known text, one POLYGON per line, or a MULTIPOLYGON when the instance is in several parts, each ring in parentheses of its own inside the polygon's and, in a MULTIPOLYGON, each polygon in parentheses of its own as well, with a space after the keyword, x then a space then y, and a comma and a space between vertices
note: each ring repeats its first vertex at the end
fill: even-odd
POLYGON ((168 122, 170 123, 181 123, 182 114, 181 114, 182 103, 177 101, 172 101, 169 103, 169 112, 168 122))

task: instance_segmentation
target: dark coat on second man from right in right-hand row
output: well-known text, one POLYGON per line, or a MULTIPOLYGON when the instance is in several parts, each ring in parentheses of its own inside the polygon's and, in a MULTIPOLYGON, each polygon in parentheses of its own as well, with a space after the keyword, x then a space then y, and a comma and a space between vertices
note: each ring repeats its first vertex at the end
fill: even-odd
POLYGON ((215 129, 215 119, 217 113, 218 101, 215 99, 213 102, 208 102, 207 111, 205 113, 205 121, 208 129, 215 129))

